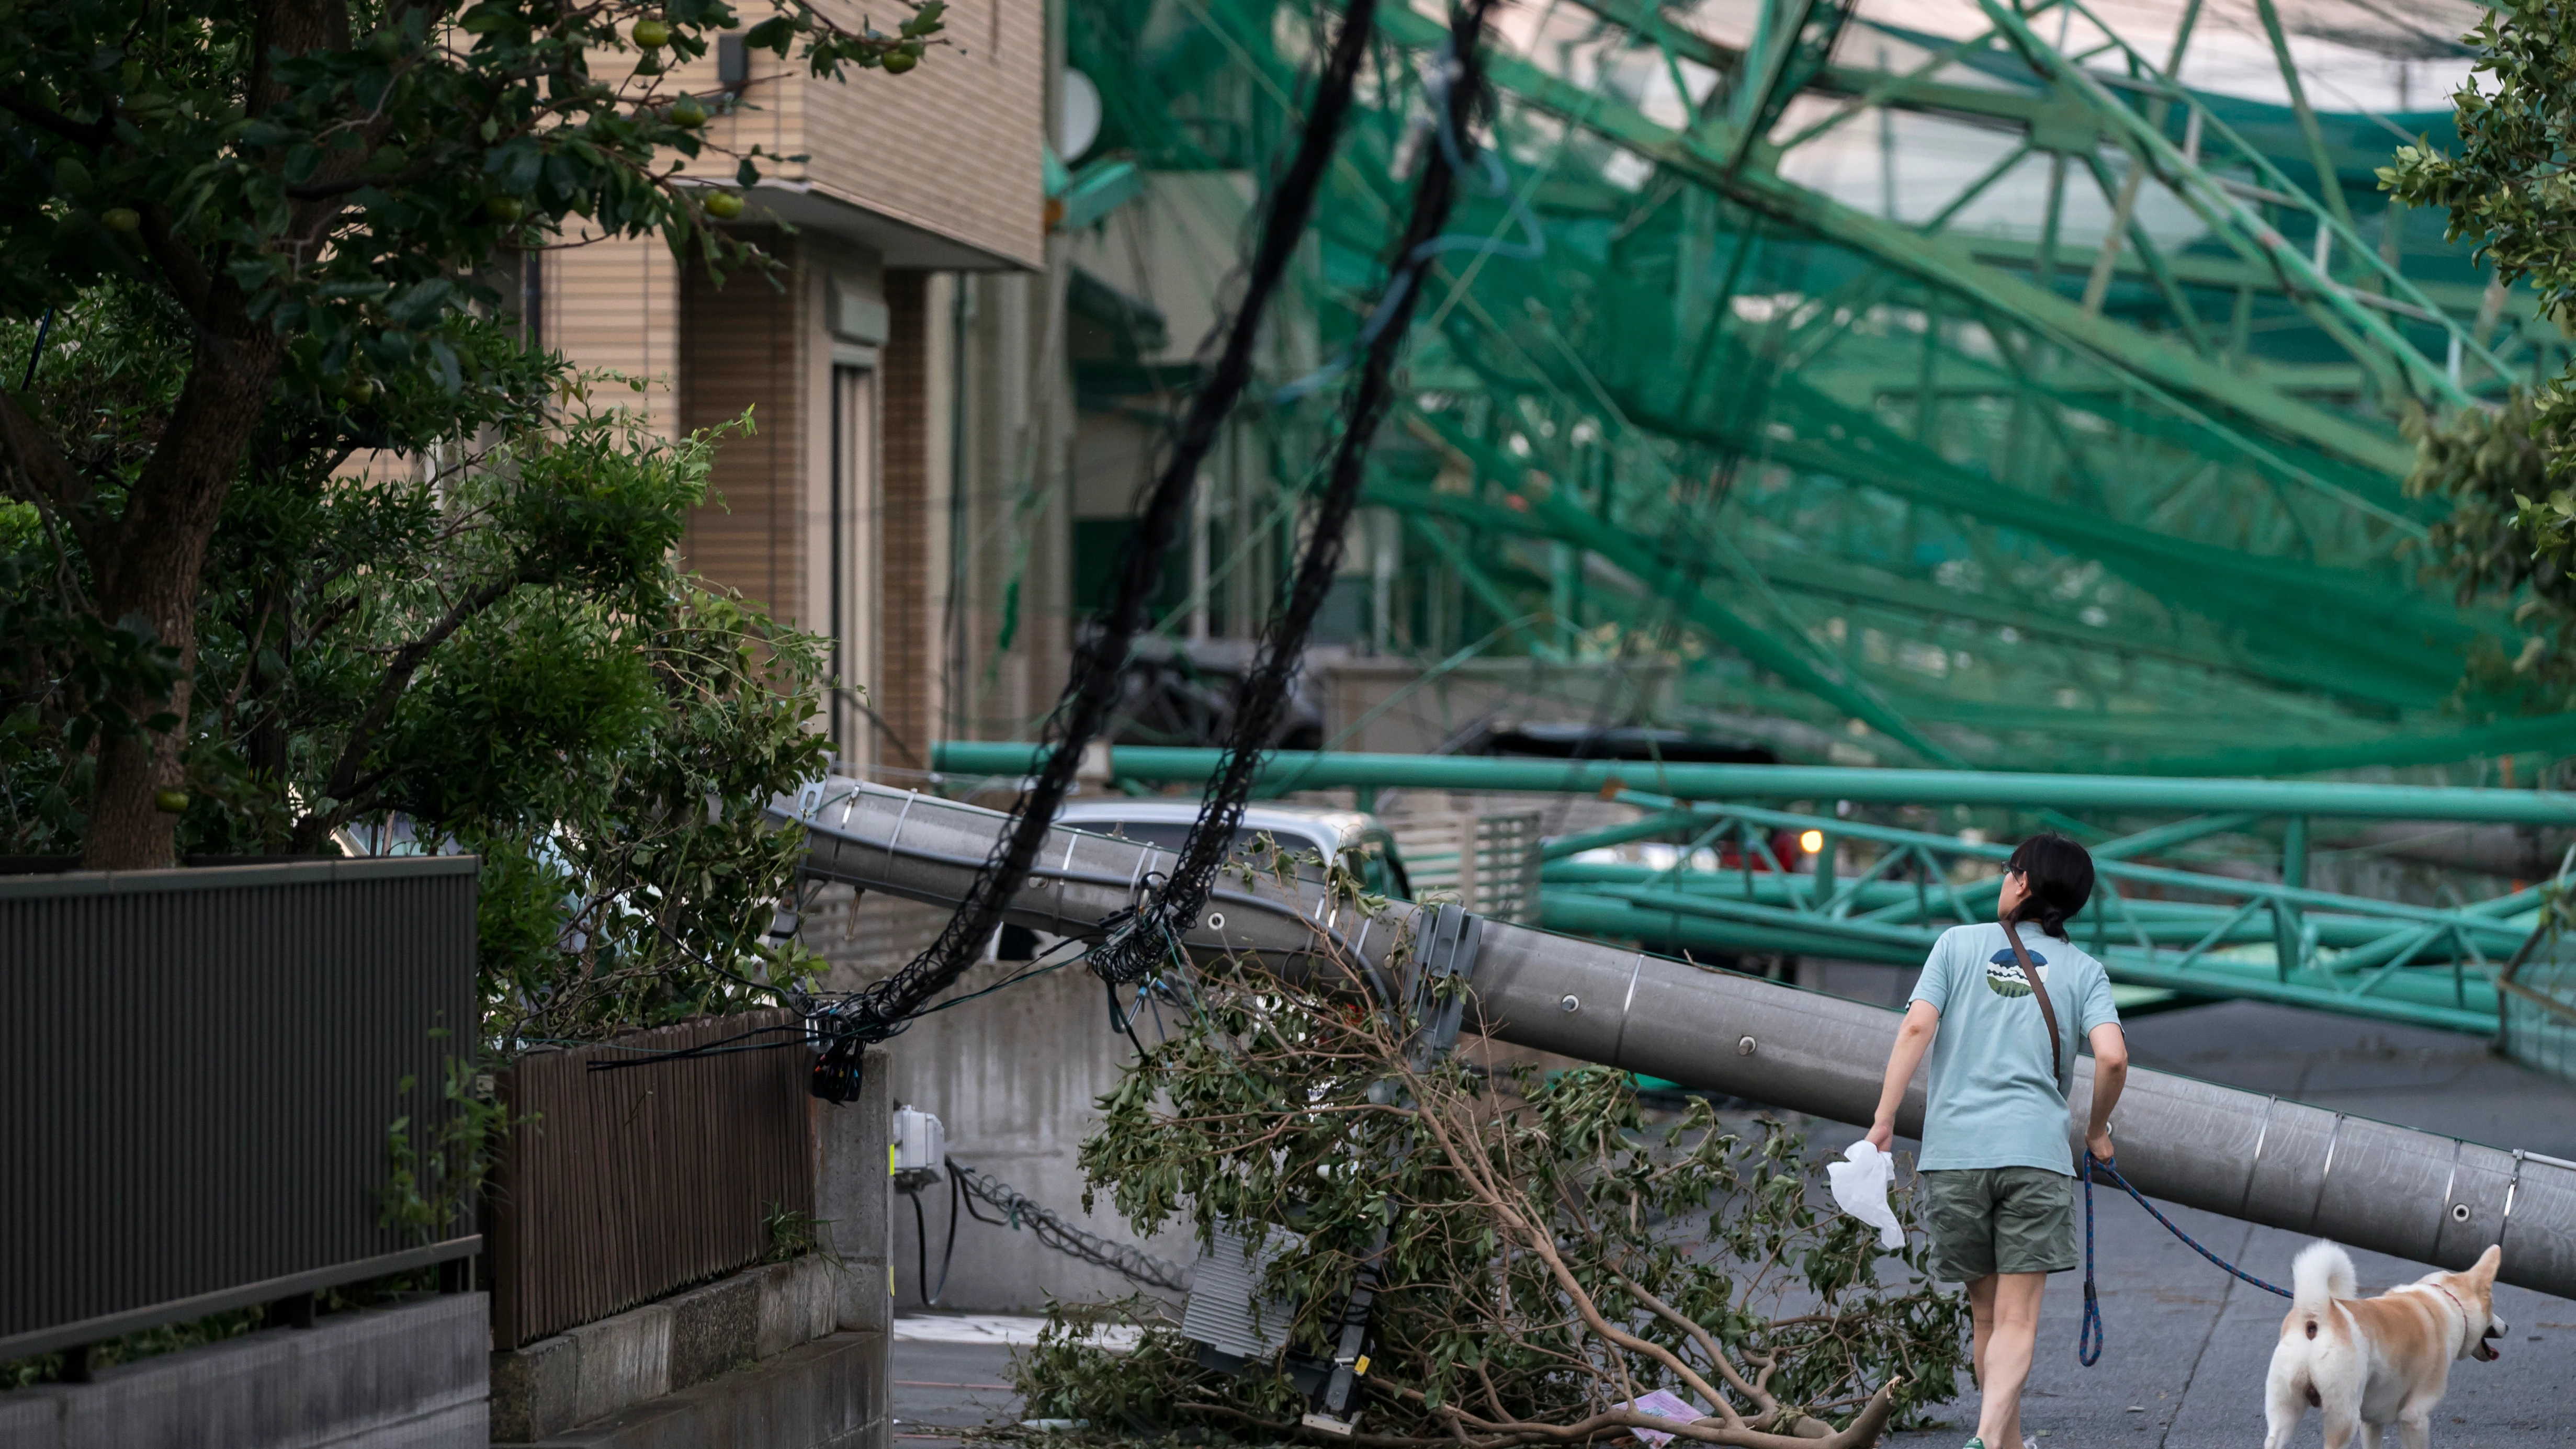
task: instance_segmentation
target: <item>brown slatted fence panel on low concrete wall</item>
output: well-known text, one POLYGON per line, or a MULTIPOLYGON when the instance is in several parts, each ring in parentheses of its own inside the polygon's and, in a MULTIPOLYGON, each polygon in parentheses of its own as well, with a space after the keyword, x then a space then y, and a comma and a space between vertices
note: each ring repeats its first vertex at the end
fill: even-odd
POLYGON ((809 1050, 788 1011, 708 1017, 500 1073, 510 1132, 484 1210, 492 1346, 623 1313, 757 1264, 773 1207, 814 1212, 809 1050), (744 1037, 744 1032, 760 1032, 744 1037), (590 1063, 744 1037, 770 1050, 590 1063))

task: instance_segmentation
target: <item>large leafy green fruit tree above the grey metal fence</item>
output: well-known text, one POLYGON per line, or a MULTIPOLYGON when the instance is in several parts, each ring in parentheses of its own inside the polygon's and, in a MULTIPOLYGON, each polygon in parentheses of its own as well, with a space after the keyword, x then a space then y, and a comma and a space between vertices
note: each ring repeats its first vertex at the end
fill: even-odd
MULTIPOLYGON (((639 605, 675 602, 657 551, 703 466, 549 412, 577 383, 497 283, 564 232, 762 263, 716 226, 739 190, 685 175, 729 100, 667 75, 734 28, 721 0, 0 5, 18 849, 134 870, 188 836, 314 847, 428 782, 474 790, 428 764, 456 741, 417 695, 464 708, 497 669, 492 749, 528 726, 569 759, 562 718, 513 713, 536 682, 510 651, 598 664, 611 636, 706 625, 703 592, 639 605), (350 481, 366 458, 410 484, 350 481)), ((938 0, 894 33, 778 0, 744 44, 842 77, 912 69, 938 28, 938 0)), ((729 160, 750 185, 765 157, 729 160)))

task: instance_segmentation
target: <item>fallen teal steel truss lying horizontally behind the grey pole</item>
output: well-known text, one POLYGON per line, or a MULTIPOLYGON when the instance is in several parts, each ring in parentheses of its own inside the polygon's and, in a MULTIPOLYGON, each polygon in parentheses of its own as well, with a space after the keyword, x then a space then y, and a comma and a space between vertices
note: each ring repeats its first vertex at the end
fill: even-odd
MULTIPOLYGON (((945 744, 938 759, 966 772, 1018 770, 1033 764, 1028 744, 945 744)), ((1090 764, 1095 775, 1121 780, 1198 780, 1211 754, 1095 746, 1090 764)), ((2308 885, 2318 854, 2311 813, 2339 816, 2347 831, 2398 829, 2406 831, 2398 839, 2411 844, 2445 831, 2506 839, 2568 831, 2421 816, 2396 818, 2393 826, 2367 821, 2411 808, 2478 818, 2576 808, 2576 795, 2535 790, 1633 759, 1280 754, 1267 770, 1273 793, 1319 782, 1600 790, 1636 806, 1641 818, 1543 844, 1548 865, 1538 924, 1713 955, 1911 963, 1924 957, 1945 924, 1991 914, 2009 844, 1976 831, 1842 816, 1832 800, 2084 811, 2107 839, 2092 842, 2102 875, 2074 932, 2112 981, 2473 1035, 2496 1032, 2494 970, 2530 937, 2545 885, 2483 901, 2455 898, 2450 909, 2318 891, 2308 885), (1659 777, 1667 793, 1638 790, 1641 777, 1659 777), (1726 800, 1692 798, 1703 793, 1723 793, 1726 800), (1747 803, 1762 798, 1790 808, 1747 803), (2184 811, 2192 813, 2161 818, 2184 811), (2146 818, 2159 824, 2138 829, 2146 818), (2213 852, 2213 836, 2228 844, 2213 852), (1687 842, 1685 860, 1646 867, 1595 854, 1628 842, 1687 842), (1721 867, 1687 867, 1703 852, 1708 865, 1721 867), (1839 857, 1850 857, 1847 867, 1837 867, 1839 857), (1906 903, 1909 896, 1914 903, 1906 903)), ((2470 893, 2478 893, 2476 883, 2470 893)))

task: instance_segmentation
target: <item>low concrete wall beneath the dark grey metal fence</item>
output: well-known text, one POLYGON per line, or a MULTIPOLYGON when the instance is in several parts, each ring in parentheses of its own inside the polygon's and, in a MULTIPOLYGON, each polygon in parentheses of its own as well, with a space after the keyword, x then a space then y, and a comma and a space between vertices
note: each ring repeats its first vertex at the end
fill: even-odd
POLYGON ((420 1297, 0 1395, 0 1449, 482 1449, 487 1295, 420 1297))

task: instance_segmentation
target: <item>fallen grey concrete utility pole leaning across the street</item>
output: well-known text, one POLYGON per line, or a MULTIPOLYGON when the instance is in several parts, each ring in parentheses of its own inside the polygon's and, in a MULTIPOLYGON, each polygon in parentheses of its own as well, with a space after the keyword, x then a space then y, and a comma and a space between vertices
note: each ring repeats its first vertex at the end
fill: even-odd
MULTIPOLYGON (((956 903, 1002 813, 853 780, 770 806, 804 824, 806 872, 912 901, 956 903)), ((1172 852, 1056 829, 1005 919, 1097 937, 1172 852)), ((1419 906, 1378 916, 1332 901, 1311 872, 1229 870, 1182 932, 1198 960, 1252 955, 1285 973, 1340 957, 1383 973, 1419 906)), ((1484 924, 1471 1024, 1497 1040, 1868 1125, 1896 1014, 1610 942, 1484 924)), ((2081 1153, 2092 1058, 2076 1060, 2069 1138, 2081 1153)), ((1899 1132, 1922 1132, 1917 1078, 1899 1132)), ((2130 1071, 2112 1135, 2120 1171, 2164 1202, 2465 1269, 2504 1246, 2504 1282, 2576 1297, 2576 1163, 2349 1117, 2161 1071, 2130 1071)))

